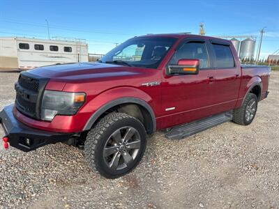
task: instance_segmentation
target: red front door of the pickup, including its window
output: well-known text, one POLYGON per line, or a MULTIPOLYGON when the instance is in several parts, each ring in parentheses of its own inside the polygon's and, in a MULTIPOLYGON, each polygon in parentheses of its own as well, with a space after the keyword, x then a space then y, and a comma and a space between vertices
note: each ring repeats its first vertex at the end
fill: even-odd
POLYGON ((211 114, 213 104, 213 70, 210 68, 206 40, 185 40, 176 49, 168 65, 177 65, 180 59, 199 59, 197 75, 165 75, 162 82, 163 128, 195 121, 211 114))

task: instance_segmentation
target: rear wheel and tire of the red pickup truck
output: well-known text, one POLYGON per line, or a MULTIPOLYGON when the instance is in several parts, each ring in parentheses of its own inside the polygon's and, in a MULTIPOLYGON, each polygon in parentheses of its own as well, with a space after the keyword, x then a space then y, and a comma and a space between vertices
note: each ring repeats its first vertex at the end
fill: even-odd
POLYGON ((238 109, 234 109, 232 121, 239 125, 249 125, 254 120, 256 113, 257 96, 253 93, 248 93, 244 99, 243 105, 238 109))

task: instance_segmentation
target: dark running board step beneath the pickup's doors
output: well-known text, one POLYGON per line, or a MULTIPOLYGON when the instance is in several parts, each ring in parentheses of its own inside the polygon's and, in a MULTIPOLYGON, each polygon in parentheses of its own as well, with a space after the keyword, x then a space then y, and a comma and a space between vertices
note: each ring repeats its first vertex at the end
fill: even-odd
POLYGON ((165 137, 167 139, 183 139, 227 121, 232 121, 232 111, 172 127, 167 131, 165 137))

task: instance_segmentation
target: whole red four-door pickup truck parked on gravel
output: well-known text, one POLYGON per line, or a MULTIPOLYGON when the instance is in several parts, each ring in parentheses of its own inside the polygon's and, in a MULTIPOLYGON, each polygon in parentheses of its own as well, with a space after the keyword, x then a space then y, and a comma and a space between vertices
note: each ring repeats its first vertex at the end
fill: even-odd
POLYGON ((96 63, 21 72, 0 114, 6 148, 66 142, 107 178, 133 170, 146 134, 181 139, 226 121, 249 125, 271 70, 241 65, 229 40, 186 33, 131 38, 96 63))

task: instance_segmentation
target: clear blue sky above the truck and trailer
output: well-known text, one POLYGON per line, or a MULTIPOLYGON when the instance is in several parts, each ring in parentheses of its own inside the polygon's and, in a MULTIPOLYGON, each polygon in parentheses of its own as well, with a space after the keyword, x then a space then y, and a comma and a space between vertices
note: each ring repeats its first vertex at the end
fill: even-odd
POLYGON ((278 0, 0 0, 0 36, 84 38, 89 52, 104 54, 115 43, 146 33, 252 35, 266 26, 262 54, 279 49, 278 0))

